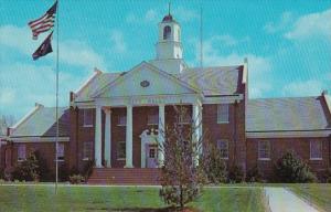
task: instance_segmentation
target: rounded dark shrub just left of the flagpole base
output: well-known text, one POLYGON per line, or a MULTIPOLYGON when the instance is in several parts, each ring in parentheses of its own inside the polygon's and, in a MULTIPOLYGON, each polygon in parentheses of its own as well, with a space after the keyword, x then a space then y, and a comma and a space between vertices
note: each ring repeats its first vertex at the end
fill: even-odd
POLYGON ((36 160, 35 153, 32 152, 29 155, 26 160, 17 165, 12 177, 14 180, 25 180, 25 181, 39 181, 40 179, 40 170, 39 162, 36 160))

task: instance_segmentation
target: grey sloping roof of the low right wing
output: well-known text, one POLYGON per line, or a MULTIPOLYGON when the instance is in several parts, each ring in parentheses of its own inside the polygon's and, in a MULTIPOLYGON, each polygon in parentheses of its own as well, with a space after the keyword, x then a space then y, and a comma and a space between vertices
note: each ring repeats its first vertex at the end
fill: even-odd
POLYGON ((313 131, 331 129, 328 110, 319 97, 249 99, 246 131, 313 131))

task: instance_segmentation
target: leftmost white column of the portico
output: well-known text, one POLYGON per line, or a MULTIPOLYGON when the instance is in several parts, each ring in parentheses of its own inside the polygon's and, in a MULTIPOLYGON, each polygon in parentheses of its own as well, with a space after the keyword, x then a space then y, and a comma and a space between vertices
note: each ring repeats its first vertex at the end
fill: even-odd
POLYGON ((95 140, 94 140, 94 158, 96 167, 102 166, 102 107, 96 107, 95 113, 95 140))

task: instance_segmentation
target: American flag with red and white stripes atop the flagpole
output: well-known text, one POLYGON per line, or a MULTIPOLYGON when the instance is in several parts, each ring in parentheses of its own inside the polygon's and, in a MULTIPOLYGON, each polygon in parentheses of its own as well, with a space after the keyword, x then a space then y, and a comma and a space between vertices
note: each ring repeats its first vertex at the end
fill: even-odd
POLYGON ((32 39, 36 40, 38 35, 42 32, 46 32, 54 26, 55 12, 56 12, 57 1, 47 10, 47 12, 34 20, 29 22, 29 26, 32 30, 32 39))

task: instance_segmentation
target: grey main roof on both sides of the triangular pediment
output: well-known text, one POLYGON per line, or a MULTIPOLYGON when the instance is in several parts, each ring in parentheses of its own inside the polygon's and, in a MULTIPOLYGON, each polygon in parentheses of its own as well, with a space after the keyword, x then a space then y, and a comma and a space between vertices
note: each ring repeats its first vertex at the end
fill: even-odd
MULTIPOLYGON (((160 70, 160 72, 162 71, 160 70)), ((75 102, 93 100, 93 94, 116 81, 118 77, 124 76, 126 73, 128 72, 99 72, 76 93, 75 102)), ((201 91, 205 96, 236 95, 241 93, 239 87, 243 78, 243 65, 204 67, 203 71, 201 71, 200 67, 194 67, 186 68, 181 74, 169 75, 174 76, 196 91, 201 91)))

